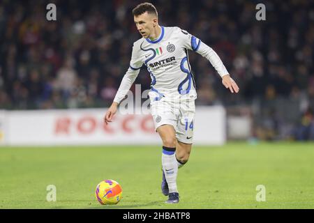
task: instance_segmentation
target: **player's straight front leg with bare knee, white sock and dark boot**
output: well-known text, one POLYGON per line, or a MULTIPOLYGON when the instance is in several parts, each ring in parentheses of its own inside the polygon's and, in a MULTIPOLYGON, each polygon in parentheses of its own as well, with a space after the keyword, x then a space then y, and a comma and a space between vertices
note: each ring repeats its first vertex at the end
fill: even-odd
POLYGON ((161 161, 163 164, 163 194, 169 195, 167 203, 179 202, 179 193, 177 190, 178 165, 176 159, 176 133, 172 125, 161 125, 156 129, 163 141, 163 153, 161 161))

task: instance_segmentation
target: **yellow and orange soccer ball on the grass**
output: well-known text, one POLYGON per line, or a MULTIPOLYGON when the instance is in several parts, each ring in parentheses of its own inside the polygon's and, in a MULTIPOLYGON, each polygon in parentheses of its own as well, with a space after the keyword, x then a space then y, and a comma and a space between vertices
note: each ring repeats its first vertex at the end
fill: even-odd
POLYGON ((122 187, 115 180, 103 180, 98 183, 95 196, 101 204, 117 204, 122 199, 122 187))

